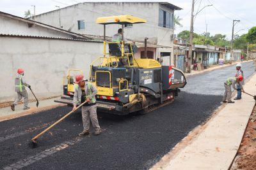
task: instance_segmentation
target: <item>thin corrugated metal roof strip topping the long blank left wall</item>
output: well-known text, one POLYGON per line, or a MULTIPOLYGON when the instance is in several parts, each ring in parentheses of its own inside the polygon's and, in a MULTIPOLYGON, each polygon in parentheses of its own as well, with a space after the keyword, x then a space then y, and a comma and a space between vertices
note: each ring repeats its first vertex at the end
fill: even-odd
POLYGON ((25 36, 25 35, 13 35, 13 34, 0 34, 1 37, 18 37, 18 38, 37 38, 37 39, 60 39, 60 40, 69 40, 69 41, 86 41, 92 43, 103 43, 103 41, 95 41, 91 39, 74 39, 74 38, 57 38, 57 37, 48 37, 48 36, 25 36))

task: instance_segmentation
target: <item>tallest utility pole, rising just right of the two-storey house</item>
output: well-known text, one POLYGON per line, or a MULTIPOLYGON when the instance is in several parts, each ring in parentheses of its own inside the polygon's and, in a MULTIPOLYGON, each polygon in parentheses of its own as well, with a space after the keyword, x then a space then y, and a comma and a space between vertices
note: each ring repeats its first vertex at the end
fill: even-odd
POLYGON ((195 4, 195 0, 192 0, 190 32, 189 32, 189 50, 188 50, 188 73, 191 73, 192 46, 193 46, 193 24, 194 24, 193 23, 194 22, 194 4, 195 4))

